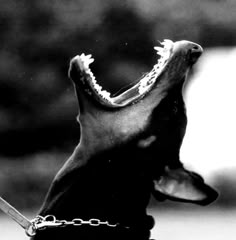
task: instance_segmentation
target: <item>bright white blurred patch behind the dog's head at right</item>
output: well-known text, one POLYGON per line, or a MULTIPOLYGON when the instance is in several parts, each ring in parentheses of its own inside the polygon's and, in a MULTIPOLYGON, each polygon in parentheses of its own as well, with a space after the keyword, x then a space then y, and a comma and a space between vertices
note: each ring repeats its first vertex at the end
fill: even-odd
POLYGON ((236 169, 236 48, 205 50, 187 87, 186 166, 203 175, 236 169))

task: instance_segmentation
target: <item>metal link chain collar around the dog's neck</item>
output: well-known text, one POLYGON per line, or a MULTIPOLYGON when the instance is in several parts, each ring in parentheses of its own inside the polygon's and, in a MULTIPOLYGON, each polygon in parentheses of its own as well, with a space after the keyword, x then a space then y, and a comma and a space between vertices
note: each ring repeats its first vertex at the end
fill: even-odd
POLYGON ((97 218, 91 218, 89 220, 83 220, 81 218, 74 218, 72 221, 67 220, 57 220, 54 215, 47 215, 45 217, 37 216, 32 221, 32 226, 37 230, 43 230, 46 228, 55 228, 55 227, 66 227, 66 226, 82 226, 82 225, 89 225, 93 227, 105 225, 107 227, 117 227, 119 224, 109 223, 108 221, 101 221, 97 218))

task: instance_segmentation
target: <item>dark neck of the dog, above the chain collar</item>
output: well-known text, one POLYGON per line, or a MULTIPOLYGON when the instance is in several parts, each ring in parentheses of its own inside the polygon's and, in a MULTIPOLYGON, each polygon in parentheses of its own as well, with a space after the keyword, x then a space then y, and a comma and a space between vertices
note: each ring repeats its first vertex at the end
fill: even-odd
POLYGON ((111 132, 103 131, 103 121, 92 127, 94 122, 99 124, 92 116, 86 117, 80 142, 56 175, 40 214, 127 225, 145 219, 153 183, 137 158, 135 145, 110 147, 111 132))

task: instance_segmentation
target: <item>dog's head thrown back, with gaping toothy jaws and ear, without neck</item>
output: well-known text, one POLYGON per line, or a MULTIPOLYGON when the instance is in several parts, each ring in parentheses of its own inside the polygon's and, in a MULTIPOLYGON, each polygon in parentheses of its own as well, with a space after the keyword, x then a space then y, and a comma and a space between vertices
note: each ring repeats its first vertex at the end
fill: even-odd
POLYGON ((217 193, 179 160, 187 124, 182 88, 203 50, 189 41, 161 44, 155 47, 159 59, 152 70, 117 96, 97 83, 89 68, 94 61, 91 55, 71 60, 69 77, 79 101, 80 144, 91 155, 119 149, 119 157, 127 162, 131 160, 124 149, 129 149, 132 158, 148 169, 157 199, 208 204, 217 193))

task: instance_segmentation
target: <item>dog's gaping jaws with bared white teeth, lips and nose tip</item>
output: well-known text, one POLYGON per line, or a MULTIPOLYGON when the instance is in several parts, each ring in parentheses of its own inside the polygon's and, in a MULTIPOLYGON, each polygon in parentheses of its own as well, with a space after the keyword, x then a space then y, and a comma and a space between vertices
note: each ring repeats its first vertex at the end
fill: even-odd
POLYGON ((111 93, 98 84, 89 67, 94 61, 92 55, 81 54, 74 57, 70 65, 70 77, 76 84, 82 84, 85 92, 100 104, 110 108, 124 107, 143 98, 154 88, 154 85, 161 81, 164 73, 170 78, 175 78, 182 72, 186 73, 202 53, 199 45, 188 41, 172 42, 166 39, 160 44, 161 46, 154 47, 158 60, 152 70, 118 96, 112 97, 111 93))

